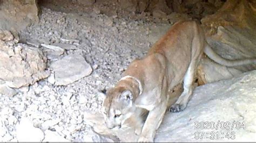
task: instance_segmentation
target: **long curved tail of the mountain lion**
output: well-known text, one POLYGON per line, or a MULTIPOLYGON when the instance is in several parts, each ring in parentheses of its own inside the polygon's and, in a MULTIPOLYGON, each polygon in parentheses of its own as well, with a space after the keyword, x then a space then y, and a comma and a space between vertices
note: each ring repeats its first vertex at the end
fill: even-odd
POLYGON ((227 60, 219 56, 215 53, 212 48, 206 43, 205 54, 212 59, 214 62, 219 63, 220 65, 233 67, 233 66, 241 66, 248 64, 256 64, 256 59, 244 59, 244 60, 227 60))

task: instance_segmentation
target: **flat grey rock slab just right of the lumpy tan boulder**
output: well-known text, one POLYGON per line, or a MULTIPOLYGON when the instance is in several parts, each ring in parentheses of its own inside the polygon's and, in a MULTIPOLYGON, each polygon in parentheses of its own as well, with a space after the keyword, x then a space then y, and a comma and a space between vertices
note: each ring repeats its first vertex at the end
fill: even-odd
POLYGON ((53 74, 48 81, 55 85, 68 85, 92 72, 89 63, 79 54, 66 55, 62 59, 52 62, 50 68, 53 74))

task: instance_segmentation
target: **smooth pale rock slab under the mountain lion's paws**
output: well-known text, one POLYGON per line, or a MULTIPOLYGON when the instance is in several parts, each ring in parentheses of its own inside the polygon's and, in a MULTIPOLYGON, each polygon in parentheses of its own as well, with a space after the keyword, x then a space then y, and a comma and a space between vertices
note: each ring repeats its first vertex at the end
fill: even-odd
MULTIPOLYGON (((256 70, 197 87, 184 111, 166 112, 154 141, 255 141, 255 87, 256 70), (211 133, 214 133, 212 140, 211 133)), ((120 141, 138 139, 134 129, 109 130, 100 114, 86 112, 84 117, 96 132, 111 139, 111 134, 120 141)))

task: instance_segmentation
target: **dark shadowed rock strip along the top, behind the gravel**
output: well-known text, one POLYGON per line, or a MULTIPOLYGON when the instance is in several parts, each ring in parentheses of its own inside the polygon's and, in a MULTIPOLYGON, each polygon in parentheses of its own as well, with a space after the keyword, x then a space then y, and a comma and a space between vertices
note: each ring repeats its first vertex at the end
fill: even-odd
MULTIPOLYGON (((44 6, 50 6, 52 9, 63 10, 63 8, 57 8, 60 5, 65 5, 64 9, 68 9, 69 5, 83 5, 86 9, 91 9, 91 11, 99 11, 108 16, 127 16, 130 13, 149 13, 156 18, 166 18, 167 15, 170 15, 172 12, 176 13, 186 13, 191 15, 193 18, 201 19, 206 15, 211 15, 216 12, 223 4, 223 1, 220 0, 193 0, 193 1, 180 1, 180 0, 86 0, 86 1, 60 1, 60 0, 42 0, 39 1, 39 4, 44 6), (58 6, 53 6, 58 5, 58 6), (108 6, 106 6, 108 5, 108 6), (87 8, 86 8, 87 7, 87 8)), ((147 14, 145 14, 147 15, 147 14)))

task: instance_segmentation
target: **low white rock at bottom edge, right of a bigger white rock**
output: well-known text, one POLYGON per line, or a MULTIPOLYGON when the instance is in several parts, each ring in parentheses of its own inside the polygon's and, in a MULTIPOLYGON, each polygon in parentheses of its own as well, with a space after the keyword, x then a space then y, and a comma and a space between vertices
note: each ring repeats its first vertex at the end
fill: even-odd
POLYGON ((60 136, 57 132, 46 130, 43 142, 70 142, 64 137, 60 136))

